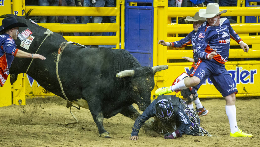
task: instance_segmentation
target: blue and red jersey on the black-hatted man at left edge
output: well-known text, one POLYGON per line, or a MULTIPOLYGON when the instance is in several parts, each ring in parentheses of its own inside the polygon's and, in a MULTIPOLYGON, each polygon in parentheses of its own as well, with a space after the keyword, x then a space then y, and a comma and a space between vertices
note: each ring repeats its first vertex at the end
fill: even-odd
POLYGON ((9 34, 0 35, 0 86, 2 87, 9 75, 11 63, 18 49, 14 39, 9 34))

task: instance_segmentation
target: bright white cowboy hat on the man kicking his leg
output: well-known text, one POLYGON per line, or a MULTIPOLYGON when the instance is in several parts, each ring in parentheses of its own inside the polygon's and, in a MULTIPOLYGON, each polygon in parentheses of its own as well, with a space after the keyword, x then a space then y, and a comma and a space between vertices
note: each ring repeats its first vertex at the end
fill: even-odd
POLYGON ((206 9, 199 10, 200 17, 212 18, 222 13, 226 13, 227 10, 223 10, 219 12, 219 5, 218 3, 209 3, 206 9))

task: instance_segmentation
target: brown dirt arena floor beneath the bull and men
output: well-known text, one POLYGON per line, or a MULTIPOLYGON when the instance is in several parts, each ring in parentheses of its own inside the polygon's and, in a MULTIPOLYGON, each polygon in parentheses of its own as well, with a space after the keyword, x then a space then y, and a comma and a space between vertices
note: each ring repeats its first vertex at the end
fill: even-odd
MULTIPOLYGON (((225 113, 225 100, 201 99, 210 111, 201 117, 201 126, 215 137, 189 136, 171 140, 154 132, 140 130, 139 140, 129 140, 134 121, 117 114, 104 119, 104 127, 112 138, 98 137, 97 126, 90 111, 72 108, 79 124, 64 126, 74 122, 66 108, 66 100, 60 97, 26 99, 26 105, 0 107, 0 146, 4 147, 79 147, 79 146, 155 146, 155 147, 257 147, 260 146, 260 114, 258 98, 237 98, 237 122, 244 132, 254 137, 230 137, 228 118, 225 113)), ((135 105, 136 106, 136 105, 135 105)))

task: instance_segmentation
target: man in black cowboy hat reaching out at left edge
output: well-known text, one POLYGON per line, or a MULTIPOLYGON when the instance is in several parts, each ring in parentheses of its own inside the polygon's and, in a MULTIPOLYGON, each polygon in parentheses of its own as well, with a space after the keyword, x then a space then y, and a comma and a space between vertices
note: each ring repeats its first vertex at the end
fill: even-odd
POLYGON ((26 24, 17 22, 15 17, 6 17, 0 26, 0 86, 3 87, 8 75, 14 56, 20 58, 32 58, 45 60, 46 57, 40 54, 30 54, 16 48, 14 39, 17 39, 19 27, 27 27, 26 24))

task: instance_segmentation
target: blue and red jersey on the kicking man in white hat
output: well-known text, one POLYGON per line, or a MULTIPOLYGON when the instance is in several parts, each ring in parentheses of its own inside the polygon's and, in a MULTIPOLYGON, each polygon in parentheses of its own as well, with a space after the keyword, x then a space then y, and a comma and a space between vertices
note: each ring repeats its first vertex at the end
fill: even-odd
POLYGON ((218 26, 210 26, 207 21, 198 28, 196 39, 197 55, 200 59, 208 59, 208 55, 217 49, 213 57, 217 62, 224 64, 228 61, 230 39, 240 43, 242 39, 236 34, 227 18, 220 18, 218 26))

